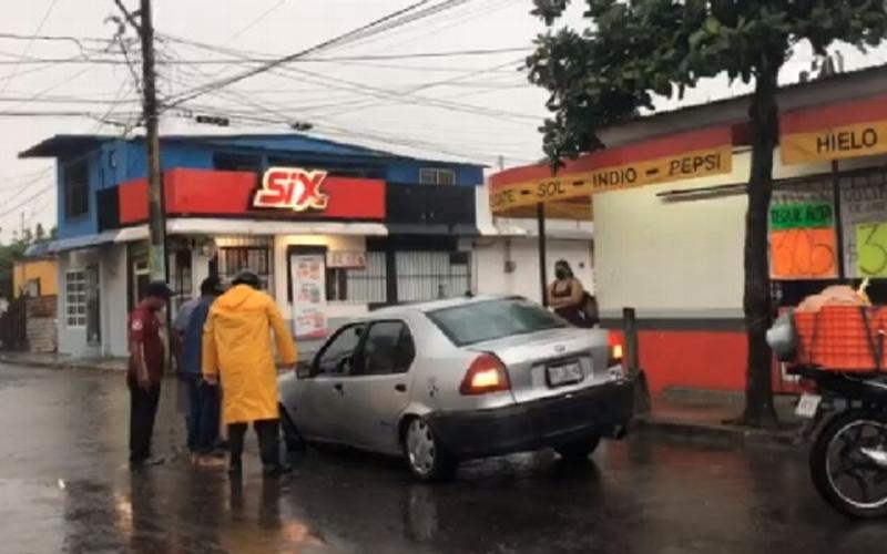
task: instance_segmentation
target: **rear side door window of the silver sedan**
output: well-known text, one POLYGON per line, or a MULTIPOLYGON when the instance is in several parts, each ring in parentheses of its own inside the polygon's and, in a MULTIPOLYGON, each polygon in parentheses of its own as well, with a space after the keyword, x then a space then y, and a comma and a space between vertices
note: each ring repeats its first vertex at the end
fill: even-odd
POLYGON ((378 321, 370 326, 364 342, 358 375, 404 373, 416 357, 409 327, 402 321, 378 321))

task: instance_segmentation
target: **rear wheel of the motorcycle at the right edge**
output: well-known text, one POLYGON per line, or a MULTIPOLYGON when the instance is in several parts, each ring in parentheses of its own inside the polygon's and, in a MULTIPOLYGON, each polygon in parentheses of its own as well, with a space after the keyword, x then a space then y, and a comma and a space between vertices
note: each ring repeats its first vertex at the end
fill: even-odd
POLYGON ((852 517, 887 515, 887 468, 875 463, 871 453, 887 455, 885 413, 842 413, 816 439, 810 476, 819 495, 838 512, 852 517))

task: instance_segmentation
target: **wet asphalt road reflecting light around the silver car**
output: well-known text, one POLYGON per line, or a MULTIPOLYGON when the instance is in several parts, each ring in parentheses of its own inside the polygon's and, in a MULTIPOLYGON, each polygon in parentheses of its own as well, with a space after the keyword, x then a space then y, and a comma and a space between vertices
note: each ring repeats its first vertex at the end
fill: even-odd
MULTIPOLYGON (((155 450, 182 441, 173 381, 155 450)), ((395 461, 310 452, 298 475, 241 485, 183 458, 126 465, 119 375, 0 366, 2 553, 854 553, 884 552, 815 495, 804 452, 635 435, 588 464, 541 452, 472 463, 442 486, 395 461)), ((252 437, 251 440, 255 439, 252 437)), ((255 450, 255 445, 253 445, 255 450)))

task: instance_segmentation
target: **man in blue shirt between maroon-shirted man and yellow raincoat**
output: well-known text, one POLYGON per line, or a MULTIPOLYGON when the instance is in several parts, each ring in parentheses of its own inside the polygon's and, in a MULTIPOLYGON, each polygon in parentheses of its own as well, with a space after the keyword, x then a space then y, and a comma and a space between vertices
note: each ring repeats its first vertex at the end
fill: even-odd
POLYGON ((221 293, 222 284, 217 277, 204 279, 201 284, 201 297, 182 307, 174 325, 182 334, 181 370, 187 387, 187 445, 191 450, 191 462, 203 466, 224 465, 224 460, 212 455, 218 440, 218 386, 204 381, 201 372, 203 326, 210 315, 210 307, 221 293))

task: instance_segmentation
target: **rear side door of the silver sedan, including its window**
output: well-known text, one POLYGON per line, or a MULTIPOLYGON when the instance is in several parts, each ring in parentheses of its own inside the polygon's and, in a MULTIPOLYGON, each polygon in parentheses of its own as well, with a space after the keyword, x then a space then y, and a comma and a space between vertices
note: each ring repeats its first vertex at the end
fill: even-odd
POLYGON ((351 444, 399 452, 397 420, 409 403, 409 369, 415 358, 416 345, 405 321, 370 324, 345 384, 351 444))

